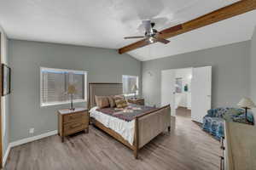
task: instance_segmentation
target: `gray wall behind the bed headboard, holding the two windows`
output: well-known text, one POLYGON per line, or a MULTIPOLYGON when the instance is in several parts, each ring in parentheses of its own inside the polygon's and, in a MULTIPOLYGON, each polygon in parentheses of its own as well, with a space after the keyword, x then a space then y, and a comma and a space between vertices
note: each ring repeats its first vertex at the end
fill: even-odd
POLYGON ((13 69, 11 141, 30 137, 30 127, 35 128, 34 135, 56 130, 56 111, 69 107, 40 107, 40 66, 88 71, 88 82, 122 82, 123 74, 141 78, 140 61, 104 48, 9 40, 9 62, 13 69))

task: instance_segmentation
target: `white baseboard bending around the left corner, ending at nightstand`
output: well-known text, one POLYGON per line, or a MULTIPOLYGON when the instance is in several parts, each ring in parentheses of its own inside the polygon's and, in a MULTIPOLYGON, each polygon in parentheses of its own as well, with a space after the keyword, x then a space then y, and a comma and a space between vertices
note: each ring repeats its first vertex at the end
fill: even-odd
POLYGON ((9 156, 9 151, 15 147, 15 146, 18 146, 20 144, 26 144, 26 143, 29 143, 29 142, 32 142, 32 141, 35 141, 35 140, 38 140, 38 139, 43 139, 43 138, 46 138, 46 137, 49 137, 49 136, 52 136, 52 135, 55 135, 57 134, 58 131, 57 130, 54 130, 54 131, 50 131, 49 133, 43 133, 43 134, 39 134, 37 136, 32 136, 32 137, 29 137, 29 138, 26 138, 26 139, 20 139, 20 140, 17 140, 15 142, 11 142, 9 143, 8 145, 8 148, 3 156, 3 167, 8 159, 8 156, 9 156))

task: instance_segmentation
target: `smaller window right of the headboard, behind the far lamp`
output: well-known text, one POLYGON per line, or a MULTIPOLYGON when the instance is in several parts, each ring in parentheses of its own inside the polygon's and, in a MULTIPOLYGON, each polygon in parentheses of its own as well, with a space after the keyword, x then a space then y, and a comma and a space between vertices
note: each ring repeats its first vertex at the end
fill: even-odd
MULTIPOLYGON (((136 76, 129 76, 129 75, 123 75, 123 94, 126 96, 134 95, 134 92, 131 90, 133 85, 137 85, 138 88, 138 77, 136 76)), ((138 90, 136 91, 136 94, 138 95, 138 90)))

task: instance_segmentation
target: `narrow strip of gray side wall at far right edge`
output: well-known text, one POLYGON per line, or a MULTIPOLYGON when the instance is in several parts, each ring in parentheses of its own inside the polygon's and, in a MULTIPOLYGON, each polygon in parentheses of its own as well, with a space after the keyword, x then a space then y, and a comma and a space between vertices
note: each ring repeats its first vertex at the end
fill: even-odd
MULTIPOLYGON (((253 38, 251 41, 251 58, 250 58, 250 95, 253 102, 256 104, 256 27, 254 29, 253 38)), ((253 109, 254 117, 256 118, 256 109, 253 109)))

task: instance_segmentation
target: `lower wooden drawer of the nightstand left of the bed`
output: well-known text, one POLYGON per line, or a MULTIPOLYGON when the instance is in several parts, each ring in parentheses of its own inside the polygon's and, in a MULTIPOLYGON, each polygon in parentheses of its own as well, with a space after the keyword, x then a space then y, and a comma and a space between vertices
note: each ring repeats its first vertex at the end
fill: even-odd
POLYGON ((86 122, 69 122, 64 125, 64 135, 69 135, 72 133, 77 133, 79 131, 84 130, 88 127, 88 123, 86 122))

